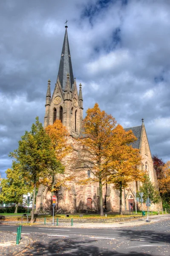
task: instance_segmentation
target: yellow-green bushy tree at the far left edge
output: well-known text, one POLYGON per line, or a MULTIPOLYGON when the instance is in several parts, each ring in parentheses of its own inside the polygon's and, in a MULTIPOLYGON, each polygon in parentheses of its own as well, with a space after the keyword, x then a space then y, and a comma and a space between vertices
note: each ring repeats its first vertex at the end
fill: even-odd
POLYGON ((14 213, 17 213, 18 204, 23 202, 23 195, 32 189, 23 177, 19 163, 12 162, 12 168, 6 170, 6 179, 1 181, 1 186, 0 201, 16 204, 14 213))

